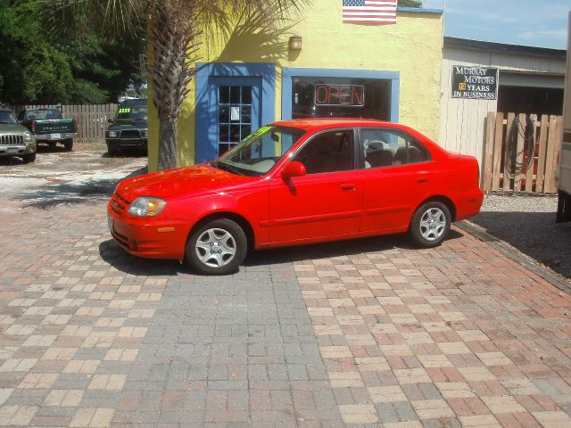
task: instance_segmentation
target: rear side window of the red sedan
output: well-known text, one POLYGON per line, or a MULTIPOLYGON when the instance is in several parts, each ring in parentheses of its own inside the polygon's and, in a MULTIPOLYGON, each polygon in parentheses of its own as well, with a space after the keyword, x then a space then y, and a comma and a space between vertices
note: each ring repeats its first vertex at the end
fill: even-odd
POLYGON ((391 129, 362 129, 365 169, 430 161, 426 147, 391 129))

